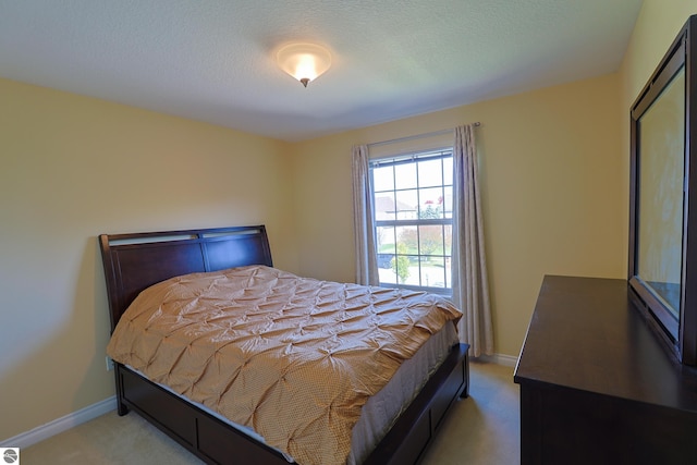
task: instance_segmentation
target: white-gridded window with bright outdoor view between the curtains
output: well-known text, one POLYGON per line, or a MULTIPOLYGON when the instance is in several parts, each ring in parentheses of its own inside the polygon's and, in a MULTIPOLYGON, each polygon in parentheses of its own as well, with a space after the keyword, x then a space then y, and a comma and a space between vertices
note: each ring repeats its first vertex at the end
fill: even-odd
POLYGON ((380 285, 451 293, 452 149, 370 162, 380 285))

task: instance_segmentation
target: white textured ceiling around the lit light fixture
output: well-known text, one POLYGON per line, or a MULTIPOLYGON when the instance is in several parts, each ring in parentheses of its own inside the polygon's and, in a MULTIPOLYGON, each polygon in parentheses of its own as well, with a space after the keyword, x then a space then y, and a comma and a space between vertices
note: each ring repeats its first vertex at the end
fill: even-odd
POLYGON ((614 72, 641 0, 0 0, 0 76, 302 140, 614 72), (314 41, 304 88, 273 52, 314 41))

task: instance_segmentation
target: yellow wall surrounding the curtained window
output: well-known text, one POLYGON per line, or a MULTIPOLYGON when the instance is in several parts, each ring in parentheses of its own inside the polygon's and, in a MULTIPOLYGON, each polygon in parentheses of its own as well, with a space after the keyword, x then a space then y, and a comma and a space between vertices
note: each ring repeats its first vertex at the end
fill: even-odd
POLYGON ((297 144, 301 271, 355 279, 353 144, 480 121, 496 352, 517 356, 543 274, 624 277, 619 106, 613 74, 297 144))

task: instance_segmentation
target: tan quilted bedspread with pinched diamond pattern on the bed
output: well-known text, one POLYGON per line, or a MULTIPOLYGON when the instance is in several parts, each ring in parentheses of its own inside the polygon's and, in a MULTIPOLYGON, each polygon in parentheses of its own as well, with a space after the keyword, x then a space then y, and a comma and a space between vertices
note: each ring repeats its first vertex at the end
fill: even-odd
POLYGON ((299 464, 344 464, 368 396, 460 317, 432 294, 250 266, 143 291, 107 352, 299 464))

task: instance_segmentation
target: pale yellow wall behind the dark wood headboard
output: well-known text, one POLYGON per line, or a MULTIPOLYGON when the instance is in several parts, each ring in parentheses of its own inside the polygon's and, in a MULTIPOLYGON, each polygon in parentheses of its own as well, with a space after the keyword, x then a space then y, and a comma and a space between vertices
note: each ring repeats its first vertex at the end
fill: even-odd
POLYGON ((113 394, 99 233, 266 223, 296 269, 288 146, 0 79, 0 440, 113 394))

